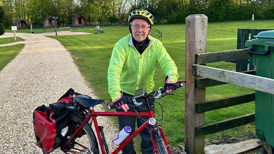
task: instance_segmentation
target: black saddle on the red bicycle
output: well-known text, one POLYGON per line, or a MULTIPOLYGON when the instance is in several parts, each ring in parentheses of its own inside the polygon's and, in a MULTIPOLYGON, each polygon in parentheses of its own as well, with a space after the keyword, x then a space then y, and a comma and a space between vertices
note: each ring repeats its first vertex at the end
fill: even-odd
POLYGON ((84 107, 91 107, 91 106, 95 106, 97 104, 101 104, 103 103, 105 100, 96 100, 96 99, 91 99, 86 95, 77 95, 74 97, 74 100, 81 104, 84 107))

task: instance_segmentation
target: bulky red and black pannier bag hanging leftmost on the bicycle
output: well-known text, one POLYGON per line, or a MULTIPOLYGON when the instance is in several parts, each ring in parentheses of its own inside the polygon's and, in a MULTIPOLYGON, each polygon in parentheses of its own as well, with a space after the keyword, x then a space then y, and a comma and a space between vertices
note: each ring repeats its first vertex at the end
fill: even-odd
POLYGON ((34 132, 38 147, 52 152, 65 145, 68 137, 70 114, 66 107, 39 106, 33 112, 34 132))

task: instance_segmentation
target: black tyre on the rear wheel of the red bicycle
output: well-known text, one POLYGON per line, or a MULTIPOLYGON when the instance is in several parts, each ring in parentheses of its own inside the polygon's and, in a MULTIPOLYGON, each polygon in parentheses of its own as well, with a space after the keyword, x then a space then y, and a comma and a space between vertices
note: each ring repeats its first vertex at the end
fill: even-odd
MULTIPOLYGON (((83 117, 79 114, 76 114, 76 113, 73 113, 70 115, 70 120, 72 120, 72 122, 78 122, 81 120, 82 121, 83 117)), ((71 129, 71 128, 69 128, 71 129)), ((93 130, 91 129, 89 123, 85 123, 84 126, 83 126, 83 131, 85 131, 86 133, 86 136, 89 140, 89 148, 91 149, 91 151, 94 153, 94 154, 97 154, 99 153, 99 148, 98 148, 98 143, 97 143, 97 140, 96 140, 96 137, 95 137, 95 134, 93 132, 93 130)), ((69 134, 68 136, 70 136, 71 134, 69 134)), ((79 139, 79 138, 77 138, 79 139)), ((77 140, 76 139, 76 140, 77 140)), ((82 147, 81 147, 82 148, 82 147)), ((83 148, 82 148, 83 149, 83 148)), ((42 150, 43 154, 50 154, 50 153, 47 153, 45 152, 44 150, 42 150)))

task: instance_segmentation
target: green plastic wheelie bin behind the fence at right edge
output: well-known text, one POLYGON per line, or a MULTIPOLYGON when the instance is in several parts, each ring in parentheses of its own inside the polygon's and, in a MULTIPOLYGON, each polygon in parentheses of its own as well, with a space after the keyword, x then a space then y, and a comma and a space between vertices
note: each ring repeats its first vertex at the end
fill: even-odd
MULTIPOLYGON (((256 68, 256 75, 274 79, 274 30, 263 31, 245 46, 256 68)), ((274 147, 274 95, 256 90, 255 131, 257 138, 274 147)))

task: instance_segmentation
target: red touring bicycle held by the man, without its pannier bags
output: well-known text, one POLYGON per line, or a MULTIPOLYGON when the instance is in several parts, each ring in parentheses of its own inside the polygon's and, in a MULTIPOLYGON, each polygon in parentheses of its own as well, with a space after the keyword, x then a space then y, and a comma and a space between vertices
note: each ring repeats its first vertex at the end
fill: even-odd
MULTIPOLYGON (((178 83, 177 88, 182 87, 184 82, 186 82, 186 80, 178 83)), ((120 143, 120 145, 111 154, 116 154, 121 151, 134 137, 136 137, 136 135, 138 135, 146 127, 150 130, 150 135, 154 146, 154 152, 156 154, 171 154, 172 151, 166 140, 163 128, 154 117, 154 113, 152 111, 152 106, 154 106, 154 104, 152 105, 150 103, 152 99, 160 99, 167 95, 175 95, 171 93, 166 93, 162 95, 164 92, 164 88, 160 88, 158 90, 147 93, 146 89, 142 88, 135 91, 133 98, 128 98, 126 100, 127 104, 132 104, 135 106, 146 105, 148 108, 147 112, 137 112, 136 110, 135 112, 96 112, 94 111, 94 106, 103 103, 104 100, 94 100, 86 95, 74 96, 74 98, 71 100, 73 102, 69 103, 70 105, 63 104, 70 111, 72 111, 72 114, 70 116, 71 122, 68 131, 69 138, 65 145, 61 147, 61 150, 65 153, 98 154, 99 148, 97 139, 91 128, 93 122, 102 154, 108 154, 109 150, 104 137, 103 126, 98 126, 96 117, 136 116, 139 118, 149 117, 149 119, 146 120, 144 124, 139 127, 134 133, 132 133, 132 135, 126 137, 126 139, 124 139, 122 143, 120 143)), ((60 103, 58 103, 58 105, 60 105, 60 103)), ((109 108, 112 109, 115 107, 112 104, 109 106, 109 108)), ((163 115, 161 121, 162 120, 163 115)))

